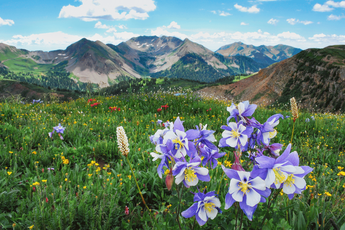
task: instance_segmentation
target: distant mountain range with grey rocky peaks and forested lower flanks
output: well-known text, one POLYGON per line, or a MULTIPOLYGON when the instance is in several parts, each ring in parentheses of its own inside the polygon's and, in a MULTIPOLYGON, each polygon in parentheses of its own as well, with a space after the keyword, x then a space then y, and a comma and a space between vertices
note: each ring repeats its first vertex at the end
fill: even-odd
POLYGON ((0 67, 11 70, 27 66, 30 71, 48 65, 72 73, 75 80, 104 86, 147 76, 213 82, 229 75, 257 72, 299 51, 285 45, 255 47, 236 42, 213 52, 188 39, 166 36, 135 37, 117 46, 83 38, 66 50, 49 52, 16 49, 0 43, 0 67))

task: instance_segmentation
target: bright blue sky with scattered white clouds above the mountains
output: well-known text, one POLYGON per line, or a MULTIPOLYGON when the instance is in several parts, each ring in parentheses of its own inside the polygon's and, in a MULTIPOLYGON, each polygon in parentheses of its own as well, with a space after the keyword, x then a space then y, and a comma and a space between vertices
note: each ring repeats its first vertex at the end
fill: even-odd
POLYGON ((144 35, 188 38, 212 51, 238 41, 324 48, 345 44, 345 0, 0 2, 0 42, 30 51, 144 35))

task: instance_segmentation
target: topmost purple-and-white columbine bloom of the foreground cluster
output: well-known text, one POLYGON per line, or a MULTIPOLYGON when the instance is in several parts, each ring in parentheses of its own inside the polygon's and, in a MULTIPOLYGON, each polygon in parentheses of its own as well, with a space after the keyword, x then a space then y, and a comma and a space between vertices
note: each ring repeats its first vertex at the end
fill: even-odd
POLYGON ((252 116, 257 108, 256 104, 249 104, 249 101, 243 101, 238 103, 237 105, 231 103, 230 107, 227 107, 226 110, 230 112, 230 116, 226 119, 226 122, 229 123, 231 118, 235 118, 236 122, 238 122, 238 118, 242 120, 244 123, 247 123, 245 117, 252 116))

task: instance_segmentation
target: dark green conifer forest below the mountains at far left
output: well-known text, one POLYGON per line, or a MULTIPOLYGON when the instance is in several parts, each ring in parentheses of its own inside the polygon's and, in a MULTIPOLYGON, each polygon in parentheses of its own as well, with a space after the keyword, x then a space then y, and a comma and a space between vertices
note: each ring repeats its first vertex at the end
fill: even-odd
MULTIPOLYGON (((45 75, 36 76, 32 72, 18 72, 14 73, 6 68, 0 67, 0 75, 4 79, 17 80, 22 82, 29 82, 37 86, 54 89, 66 89, 66 90, 79 90, 83 91, 87 88, 87 83, 79 82, 76 83, 74 80, 69 78, 69 72, 59 71, 48 71, 45 75)), ((58 90, 59 91, 59 90, 58 90)))

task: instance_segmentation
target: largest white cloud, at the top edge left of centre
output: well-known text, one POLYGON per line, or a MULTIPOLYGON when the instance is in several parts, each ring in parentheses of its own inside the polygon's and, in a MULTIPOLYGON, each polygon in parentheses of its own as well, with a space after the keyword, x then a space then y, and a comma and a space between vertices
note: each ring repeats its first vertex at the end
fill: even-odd
POLYGON ((147 19, 148 12, 156 9, 153 0, 79 0, 81 5, 63 6, 59 18, 79 18, 83 21, 147 19))

